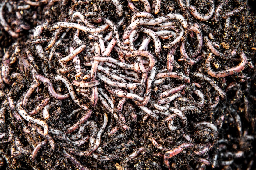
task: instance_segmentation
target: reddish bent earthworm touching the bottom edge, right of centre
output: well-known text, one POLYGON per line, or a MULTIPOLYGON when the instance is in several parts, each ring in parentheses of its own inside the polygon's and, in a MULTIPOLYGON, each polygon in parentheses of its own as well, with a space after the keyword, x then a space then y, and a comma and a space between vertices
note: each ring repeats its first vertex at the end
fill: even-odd
POLYGON ((172 158, 173 156, 179 154, 185 148, 189 148, 189 147, 192 147, 192 146, 194 146, 194 144, 183 143, 183 144, 179 145, 177 148, 174 148, 173 150, 165 152, 165 154, 164 154, 164 162, 165 162, 165 165, 169 168, 169 170, 171 169, 171 167, 169 165, 169 159, 172 158))

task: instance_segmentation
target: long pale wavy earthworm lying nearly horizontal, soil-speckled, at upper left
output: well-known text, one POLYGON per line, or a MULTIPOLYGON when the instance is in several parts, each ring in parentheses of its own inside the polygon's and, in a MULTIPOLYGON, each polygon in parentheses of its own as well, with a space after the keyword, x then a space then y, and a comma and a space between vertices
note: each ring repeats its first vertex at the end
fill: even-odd
POLYGON ((58 28, 76 28, 76 29, 80 29, 83 32, 89 32, 89 33, 94 33, 94 32, 101 32, 101 31, 105 31, 106 29, 108 29, 109 25, 108 24, 104 24, 101 25, 97 28, 88 28, 85 26, 82 26, 80 24, 76 24, 76 23, 68 23, 68 22, 57 22, 54 25, 52 25, 50 27, 50 31, 53 31, 55 29, 58 28))

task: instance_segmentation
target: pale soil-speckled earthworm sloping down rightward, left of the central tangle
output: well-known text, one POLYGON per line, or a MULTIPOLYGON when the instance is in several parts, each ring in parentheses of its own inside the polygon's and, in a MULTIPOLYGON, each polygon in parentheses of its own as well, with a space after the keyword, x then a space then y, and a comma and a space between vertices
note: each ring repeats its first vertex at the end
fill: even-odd
POLYGON ((55 80, 61 80, 66 85, 67 89, 69 90, 70 97, 78 106, 82 107, 84 110, 89 109, 84 103, 80 104, 79 99, 76 97, 73 86, 66 77, 57 75, 55 76, 55 80))

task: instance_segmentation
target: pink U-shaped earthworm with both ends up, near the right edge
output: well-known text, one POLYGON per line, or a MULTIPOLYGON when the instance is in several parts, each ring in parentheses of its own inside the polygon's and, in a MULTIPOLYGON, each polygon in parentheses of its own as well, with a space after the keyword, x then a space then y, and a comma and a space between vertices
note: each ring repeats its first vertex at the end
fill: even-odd
POLYGON ((212 60, 212 53, 209 53, 209 55, 205 61, 205 66, 207 67, 207 72, 212 77, 226 77, 226 76, 232 75, 234 73, 239 73, 245 69, 245 66, 248 63, 247 57, 244 54, 244 52, 240 53, 240 57, 241 57, 242 61, 237 67, 234 67, 234 68, 231 68, 228 70, 224 70, 224 71, 215 72, 210 68, 210 62, 212 60))

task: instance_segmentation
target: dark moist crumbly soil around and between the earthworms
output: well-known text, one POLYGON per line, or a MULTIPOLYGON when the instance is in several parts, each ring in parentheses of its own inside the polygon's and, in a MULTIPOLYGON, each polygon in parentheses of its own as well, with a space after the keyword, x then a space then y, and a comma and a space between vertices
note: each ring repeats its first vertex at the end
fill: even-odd
MULTIPOLYGON (((126 20, 124 24, 119 29, 119 35, 122 36, 124 29, 130 25, 131 17, 133 12, 128 8, 127 1, 121 1, 123 8, 127 10, 128 14, 126 14, 126 20)), ((149 1, 152 4, 152 1, 149 1)), ((190 5, 196 6, 197 10, 200 13, 207 13, 209 9, 208 3, 206 1, 196 1, 190 2, 190 5)), ((215 8, 220 4, 224 3, 224 1, 215 1, 215 8)), ((231 17, 230 26, 228 30, 225 30, 225 19, 220 19, 218 22, 214 21, 212 18, 205 22, 199 22, 194 19, 190 14, 184 13, 186 19, 191 23, 198 23, 200 25, 201 31, 203 35, 212 35, 215 37, 214 42, 218 42, 223 47, 220 48, 220 51, 225 55, 229 55, 233 49, 237 49, 238 52, 244 51, 248 58, 248 61, 251 61, 255 66, 255 52, 254 49, 256 47, 256 20, 255 20, 255 8, 252 6, 255 2, 249 1, 228 1, 226 5, 223 6, 223 9, 220 12, 220 16, 224 15, 226 12, 229 12, 235 8, 240 7, 241 5, 245 6, 245 9, 231 17), (224 34, 225 32, 225 34, 224 34)), ((140 11, 144 10, 144 5, 141 1, 134 2, 136 7, 140 9, 140 11)), ((27 58, 27 54, 25 53, 27 49, 30 50, 32 56, 34 56, 34 60, 36 65, 38 66, 38 73, 42 75, 52 77, 52 75, 56 75, 56 69, 60 68, 58 65, 58 59, 52 60, 52 68, 48 67, 48 63, 42 60, 35 50, 33 44, 30 43, 31 37, 33 37, 33 29, 42 23, 48 22, 48 25, 52 25, 56 22, 71 22, 71 16, 69 15, 70 11, 75 12, 88 12, 93 11, 94 7, 97 6, 97 13, 102 17, 107 17, 114 22, 117 22, 119 17, 116 15, 116 7, 112 4, 111 1, 90 1, 86 2, 84 0, 80 1, 78 5, 75 5, 73 1, 60 1, 54 2, 53 6, 48 6, 47 4, 41 4, 40 6, 33 7, 31 6, 29 9, 22 10, 22 18, 18 19, 15 12, 15 6, 24 5, 23 1, 13 2, 12 11, 8 11, 7 8, 4 8, 4 17, 8 24, 11 26, 13 30, 20 29, 20 24, 25 24, 30 27, 30 29, 20 29, 19 37, 12 38, 2 26, 0 26, 0 57, 6 51, 9 51, 10 54, 14 53, 15 46, 20 47, 20 52, 16 56, 17 60, 10 66, 10 72, 12 73, 22 73, 22 76, 17 79, 10 79, 14 82, 12 85, 5 84, 5 87, 2 89, 1 96, 1 107, 3 107, 3 101, 7 99, 6 94, 9 92, 13 97, 14 101, 18 101, 23 93, 25 93, 30 85, 32 84, 32 76, 30 70, 28 70, 24 66, 23 58, 27 58), (16 22, 14 22, 16 21, 16 22), (18 23, 15 25, 15 23, 18 23), (16 43, 16 44, 15 44, 16 43)), ((163 14, 168 13, 183 13, 180 5, 177 1, 169 1, 162 0, 161 2, 161 10, 155 15, 156 17, 160 17, 163 14)), ((215 15, 215 14, 214 14, 215 15)), ((68 36, 66 36, 61 45, 58 47, 58 51, 63 52, 63 56, 68 55, 69 51, 65 51, 66 47, 72 45, 75 49, 78 47, 73 43, 73 35, 76 33, 75 30, 70 31, 68 36)), ((85 42, 91 42, 87 38, 87 33, 80 32, 81 39, 85 42)), ((49 30, 44 30, 43 34, 45 37, 50 38, 52 32, 49 30)), ((104 34, 106 35, 106 34, 104 34)), ((197 39, 189 39, 190 44, 197 43, 197 39)), ((92 41, 93 42, 93 41, 92 41)), ((168 42, 167 42, 168 43, 168 42)), ((47 44, 46 44, 47 45, 47 44)), ((46 46, 43 45, 44 47, 46 46)), ((151 42, 149 47, 153 46, 151 42)), ((186 46, 187 48, 190 45, 186 46)), ((154 48, 149 48, 152 53, 154 53, 154 48)), ((203 45, 203 50, 209 53, 209 49, 203 45)), ((161 49, 161 55, 157 58, 157 63, 155 64, 158 70, 165 69, 166 67, 166 55, 169 52, 169 49, 161 49)), ((180 55, 179 48, 176 52, 177 55, 180 55)), ((113 58, 117 58, 117 54, 111 53, 113 58)), ((83 51, 80 56, 87 56, 86 51, 83 51)), ((177 56, 179 57, 179 56, 177 56)), ((175 58, 177 60, 178 58, 175 58)), ((237 55, 236 57, 239 58, 237 55)), ((87 62, 86 57, 80 59, 81 62, 87 62)), ((206 57, 203 57, 201 61, 199 61, 196 65, 190 66, 190 73, 193 72, 201 72, 206 73, 204 68, 206 57)), ((237 66, 240 63, 240 60, 225 60, 221 58, 215 58, 212 62, 219 65, 219 70, 223 70, 225 68, 232 68, 237 66)), ((179 62, 180 68, 178 71, 183 72, 186 69, 186 65, 183 62, 179 62)), ((72 63, 70 64, 72 67, 72 63)), ((106 66, 105 66, 106 67, 106 66)), ((214 109, 211 109, 211 105, 215 102, 214 97, 218 96, 218 93, 211 87, 211 85, 201 80, 200 78, 190 76, 191 82, 197 82, 202 87, 203 94, 205 95, 206 102, 204 103, 204 107, 201 107, 197 111, 186 111, 186 116, 188 119, 187 126, 182 126, 181 121, 176 119, 174 124, 178 126, 176 131, 170 131, 165 123, 163 123, 163 118, 160 120, 155 120, 152 118, 148 118, 145 121, 142 121, 142 117, 144 117, 144 113, 138 109, 137 107, 133 107, 133 110, 130 109, 129 104, 134 105, 133 101, 127 100, 126 104, 123 108, 123 115, 126 118, 127 125, 130 127, 130 130, 118 130, 115 134, 109 135, 108 132, 115 127, 116 121, 112 117, 112 114, 104 108, 101 103, 98 103, 96 107, 93 109, 93 115, 90 117, 90 120, 97 122, 98 128, 103 124, 103 113, 108 114, 108 125, 105 128, 105 131, 101 137, 101 147, 105 155, 111 155, 113 159, 110 161, 100 161, 95 159, 92 156, 76 156, 76 159, 84 166, 91 169, 168 169, 168 167, 164 164, 163 157, 157 156, 158 153, 163 154, 165 151, 161 151, 157 149, 151 142, 150 138, 152 135, 155 139, 157 139, 158 143, 162 144, 166 148, 175 148, 181 143, 186 142, 183 138, 183 132, 189 134, 193 140, 193 143, 196 147, 199 147, 201 144, 211 144, 212 148, 210 151, 206 152, 204 156, 199 156, 193 154, 194 148, 188 148, 181 152, 180 154, 169 159, 171 169, 198 169, 199 164, 197 161, 199 158, 206 158, 209 161, 213 161, 213 157, 215 154, 221 155, 221 153, 232 152, 236 153, 238 151, 243 151, 244 155, 240 158, 234 158, 230 155, 227 158, 218 158, 218 165, 215 168, 211 166, 206 166, 205 169, 247 169, 250 168, 250 163, 252 163, 251 169, 254 169, 255 166, 255 140, 247 140, 243 134, 239 134, 237 127, 238 123, 235 121, 236 115, 238 114, 241 119, 241 127, 242 132, 247 133, 247 135, 255 137, 255 109, 256 109, 256 82, 255 82, 255 68, 252 69, 249 66, 242 71, 243 73, 234 74, 232 76, 223 78, 213 78, 216 84, 221 87, 223 90, 232 83, 236 82, 236 86, 231 88, 227 93, 225 98, 221 98, 219 104, 214 109), (247 99, 247 100, 246 100, 247 99), (137 119, 133 120, 130 117, 131 113, 137 114, 137 119), (218 130, 218 133, 214 134, 208 128, 199 128, 196 127, 196 124, 201 121, 208 122, 219 122, 216 125, 220 125, 221 119, 220 117, 225 117, 222 122, 222 128, 218 130), (171 137, 168 138, 167 137, 171 137), (218 140, 224 139, 225 142, 220 143, 218 140), (129 141, 134 141, 133 146, 125 146, 129 141), (135 158, 130 161, 123 161, 128 155, 130 155, 136 148, 140 146, 144 146, 146 149, 142 154, 139 154, 135 158), (222 161, 234 160, 231 165, 223 166, 221 165, 222 161)), ((75 71, 72 72, 75 74, 75 71)), ((71 73, 71 74, 72 74, 71 73)), ((68 76, 68 73, 64 74, 68 76)), ((176 87, 177 84, 180 84, 179 80, 166 80, 165 84, 169 84, 171 87, 176 87)), ((68 93, 66 86, 60 81, 53 81, 55 89, 59 89, 61 94, 68 93)), ((104 87, 104 83, 100 85, 102 88, 104 87)), ((39 86, 38 93, 33 93, 30 96, 28 101, 27 111, 33 110, 41 101, 41 99, 45 97, 49 97, 53 107, 50 108, 49 112, 51 113, 50 119, 48 119, 47 124, 49 128, 56 128, 62 131, 66 131, 71 125, 76 123, 80 117, 83 116, 84 112, 79 111, 73 117, 68 118, 69 114, 79 108, 73 100, 70 98, 65 100, 56 100, 50 97, 48 93, 48 89, 44 84, 39 86)), ((161 88, 159 86, 158 88, 161 88)), ((157 95, 158 92, 152 92, 152 96, 157 95)), ((199 98, 193 93, 192 88, 187 88, 185 90, 185 95, 187 98, 194 98, 199 100, 199 98)), ((86 97, 83 97, 79 94, 77 96, 86 103, 89 107, 91 107, 91 101, 86 97)), ((117 96, 113 96, 116 103, 119 102, 120 98, 117 96)), ((152 97, 154 98, 154 97, 152 97)), ((183 103, 181 101, 178 102, 179 105, 183 103)), ((33 150, 31 146, 31 141, 43 141, 44 138, 40 135, 32 137, 32 135, 24 133, 23 127, 24 124, 26 126, 30 126, 27 122, 18 122, 13 116, 13 112, 6 105, 7 111, 5 113, 5 124, 7 126, 2 127, 0 132, 8 132, 9 129, 12 129, 13 139, 19 138, 21 143, 28 150, 33 150)), ((148 106, 152 107, 152 106, 148 106)), ((42 113, 35 115, 36 118, 42 118, 42 113)), ((86 129, 84 134, 89 134, 90 129, 86 129)), ((36 158, 31 160, 29 155, 20 154, 18 156, 11 155, 11 148, 14 141, 8 141, 8 137, 3 138, 0 143, 1 154, 6 155, 8 162, 5 158, 3 158, 3 162, 0 165, 0 169, 77 169, 75 164, 72 164, 69 158, 63 155, 63 148, 73 148, 76 151, 86 150, 88 147, 88 143, 85 143, 81 147, 74 147, 73 145, 69 145, 65 141, 59 140, 58 138, 54 138, 55 140, 55 150, 52 150, 49 144, 46 144, 40 151, 38 152, 36 158)), ((1 157, 0 154, 0 157, 1 157)))

